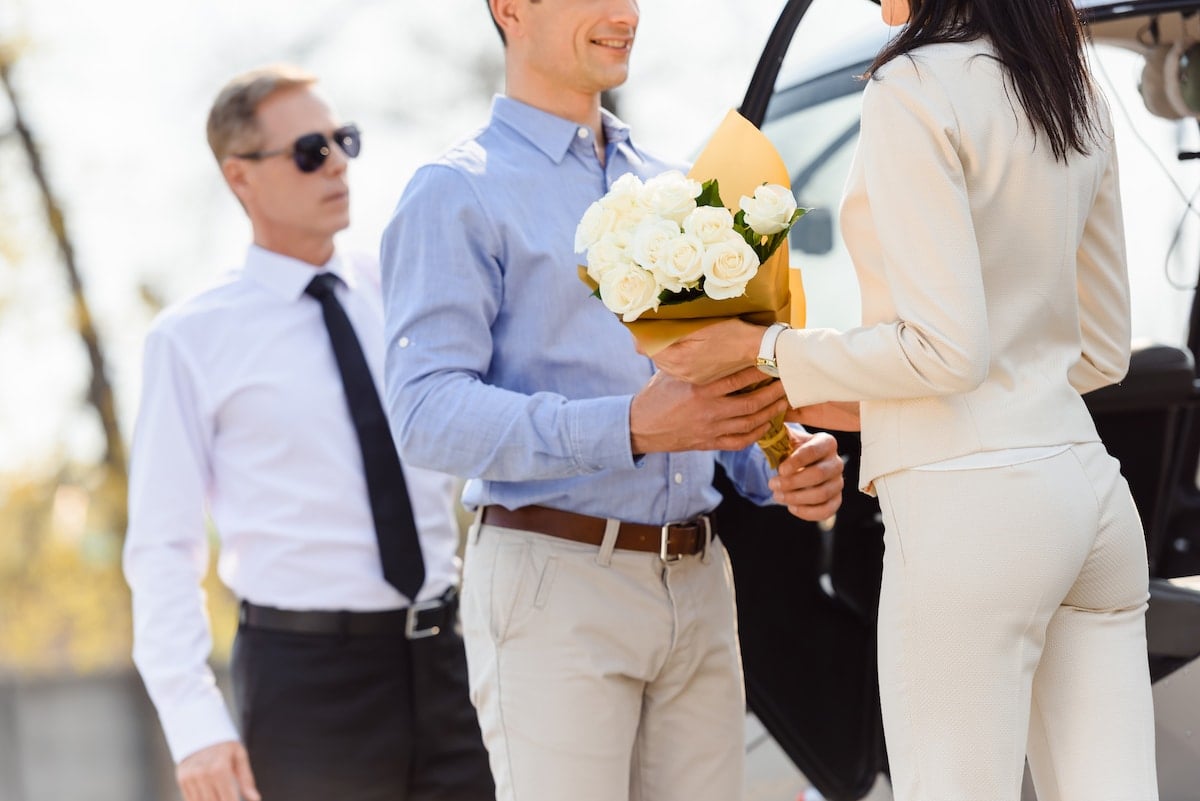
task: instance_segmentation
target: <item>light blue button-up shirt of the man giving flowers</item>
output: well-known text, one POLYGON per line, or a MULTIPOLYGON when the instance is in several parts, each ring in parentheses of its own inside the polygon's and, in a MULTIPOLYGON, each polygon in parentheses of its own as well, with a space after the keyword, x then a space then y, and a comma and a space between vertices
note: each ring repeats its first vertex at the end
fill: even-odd
MULTIPOLYGON (((630 452, 650 379, 629 331, 577 276, 575 228, 625 173, 668 164, 605 114, 593 132, 497 97, 491 122, 421 168, 383 239, 386 403, 406 463, 469 481, 468 506, 661 525, 712 510, 712 452, 630 452)), ((757 446, 715 458, 770 500, 757 446)))

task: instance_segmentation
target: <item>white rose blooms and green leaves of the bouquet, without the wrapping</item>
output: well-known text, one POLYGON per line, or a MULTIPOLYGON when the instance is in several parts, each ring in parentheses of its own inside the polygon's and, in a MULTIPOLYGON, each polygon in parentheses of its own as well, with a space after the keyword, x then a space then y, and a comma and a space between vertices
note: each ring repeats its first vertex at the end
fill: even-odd
POLYGON ((623 175, 583 215, 575 249, 587 253, 596 295, 625 323, 661 306, 740 297, 805 210, 778 183, 760 185, 739 206, 725 206, 716 179, 623 175))

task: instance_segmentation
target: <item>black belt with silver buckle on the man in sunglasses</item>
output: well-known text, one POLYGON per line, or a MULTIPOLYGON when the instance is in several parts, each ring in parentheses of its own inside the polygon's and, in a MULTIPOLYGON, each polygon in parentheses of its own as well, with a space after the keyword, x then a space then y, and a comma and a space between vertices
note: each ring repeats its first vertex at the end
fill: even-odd
POLYGON ((242 601, 238 622, 247 628, 293 634, 400 634, 424 639, 451 631, 457 612, 458 590, 451 586, 440 598, 384 612, 296 612, 242 601))

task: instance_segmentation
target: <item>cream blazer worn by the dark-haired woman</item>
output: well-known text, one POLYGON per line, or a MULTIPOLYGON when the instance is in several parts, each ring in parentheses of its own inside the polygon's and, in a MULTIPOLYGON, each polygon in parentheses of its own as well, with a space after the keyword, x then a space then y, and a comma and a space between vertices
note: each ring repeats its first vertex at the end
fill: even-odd
POLYGON ((1080 393, 1129 363, 1112 125, 1055 161, 986 40, 878 70, 841 230, 863 325, 785 331, 793 406, 862 401, 860 486, 977 451, 1098 440, 1080 393))

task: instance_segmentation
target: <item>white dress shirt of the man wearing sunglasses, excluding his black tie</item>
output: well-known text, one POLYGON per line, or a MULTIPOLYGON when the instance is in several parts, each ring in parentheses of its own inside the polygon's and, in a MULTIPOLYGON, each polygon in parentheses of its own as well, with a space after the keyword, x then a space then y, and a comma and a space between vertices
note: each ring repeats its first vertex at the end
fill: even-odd
MULTIPOLYGON (((335 255, 349 315, 382 389, 378 266, 335 255)), ((133 660, 172 754, 234 740, 208 667, 200 579, 211 516, 233 592, 283 609, 380 610, 409 600, 383 578, 362 456, 312 265, 251 247, 245 267, 163 312, 145 343, 125 574, 133 660)), ((404 466, 425 558, 418 600, 457 578, 455 480, 404 466)))

